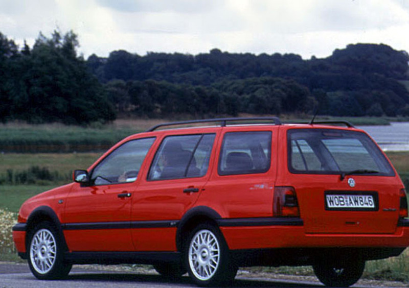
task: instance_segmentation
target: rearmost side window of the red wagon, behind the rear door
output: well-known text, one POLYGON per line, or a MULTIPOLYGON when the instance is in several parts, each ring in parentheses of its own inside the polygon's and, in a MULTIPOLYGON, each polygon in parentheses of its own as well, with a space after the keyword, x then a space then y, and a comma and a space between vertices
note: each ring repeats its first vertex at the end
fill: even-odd
POLYGON ((229 132, 220 152, 219 175, 267 172, 271 158, 271 132, 229 132))

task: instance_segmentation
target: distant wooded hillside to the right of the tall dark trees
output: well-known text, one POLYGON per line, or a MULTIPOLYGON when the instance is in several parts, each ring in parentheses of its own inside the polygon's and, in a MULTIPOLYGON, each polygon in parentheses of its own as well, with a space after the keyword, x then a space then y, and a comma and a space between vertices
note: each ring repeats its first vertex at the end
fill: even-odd
POLYGON ((355 44, 325 59, 294 54, 114 51, 87 64, 119 112, 164 115, 312 112, 409 115, 409 56, 387 45, 355 44), (137 87, 137 88, 135 88, 137 87))

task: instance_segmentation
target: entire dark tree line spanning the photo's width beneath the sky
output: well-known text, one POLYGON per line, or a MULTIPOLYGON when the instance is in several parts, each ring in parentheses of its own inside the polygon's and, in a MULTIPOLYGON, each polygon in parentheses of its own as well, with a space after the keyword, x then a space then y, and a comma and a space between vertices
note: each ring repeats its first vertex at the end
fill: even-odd
POLYGON ((351 44, 330 57, 123 50, 78 56, 72 31, 18 47, 0 33, 0 121, 86 124, 117 115, 409 116, 409 55, 351 44))

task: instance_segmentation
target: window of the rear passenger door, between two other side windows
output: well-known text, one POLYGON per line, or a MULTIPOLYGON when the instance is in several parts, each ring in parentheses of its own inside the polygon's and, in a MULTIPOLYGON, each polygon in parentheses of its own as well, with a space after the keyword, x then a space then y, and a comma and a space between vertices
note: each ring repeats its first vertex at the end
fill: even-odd
POLYGON ((166 137, 153 159, 148 180, 205 176, 215 134, 166 137))

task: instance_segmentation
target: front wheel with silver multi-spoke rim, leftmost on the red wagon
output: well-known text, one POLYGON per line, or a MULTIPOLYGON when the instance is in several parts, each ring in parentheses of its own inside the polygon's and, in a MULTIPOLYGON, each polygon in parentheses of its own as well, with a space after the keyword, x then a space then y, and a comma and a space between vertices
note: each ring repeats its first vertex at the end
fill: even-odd
POLYGON ((52 223, 38 224, 28 243, 28 263, 37 279, 61 279, 70 273, 72 265, 64 263, 62 243, 52 223))

